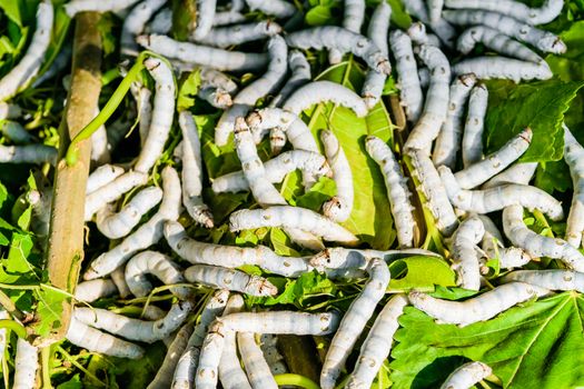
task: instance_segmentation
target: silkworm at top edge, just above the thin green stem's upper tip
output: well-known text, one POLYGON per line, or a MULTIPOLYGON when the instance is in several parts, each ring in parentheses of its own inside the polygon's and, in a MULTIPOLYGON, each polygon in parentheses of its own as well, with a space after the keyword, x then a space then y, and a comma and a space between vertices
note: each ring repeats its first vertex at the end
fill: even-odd
POLYGON ((123 26, 121 28, 120 51, 126 56, 138 54, 138 44, 136 43, 136 36, 140 34, 148 20, 156 13, 166 0, 145 0, 140 1, 133 7, 123 18, 123 26))

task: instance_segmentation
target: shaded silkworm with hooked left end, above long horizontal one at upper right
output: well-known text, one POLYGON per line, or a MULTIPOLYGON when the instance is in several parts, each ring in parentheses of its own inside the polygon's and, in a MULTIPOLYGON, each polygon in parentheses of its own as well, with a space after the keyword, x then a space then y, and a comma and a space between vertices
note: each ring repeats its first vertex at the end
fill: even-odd
POLYGON ((458 37, 456 48, 463 54, 468 54, 475 48, 476 43, 483 43, 486 48, 503 56, 535 63, 543 61, 542 57, 537 56, 526 46, 486 26, 473 26, 465 30, 458 37))

